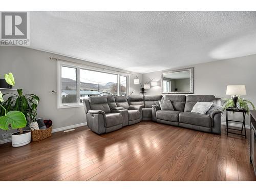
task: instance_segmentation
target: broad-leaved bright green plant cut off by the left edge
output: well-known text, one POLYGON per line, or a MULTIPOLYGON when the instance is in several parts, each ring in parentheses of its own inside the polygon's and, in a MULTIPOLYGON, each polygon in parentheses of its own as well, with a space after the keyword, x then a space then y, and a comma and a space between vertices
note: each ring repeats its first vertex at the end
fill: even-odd
MULTIPOLYGON (((14 86, 15 81, 12 73, 5 74, 5 80, 11 86, 14 86)), ((9 127, 12 129, 22 129, 26 126, 27 120, 25 115, 17 110, 9 110, 3 106, 3 94, 0 91, 0 129, 9 130, 9 127)), ((31 134, 31 133, 30 133, 31 134)), ((26 143, 27 144, 27 143, 26 143)))

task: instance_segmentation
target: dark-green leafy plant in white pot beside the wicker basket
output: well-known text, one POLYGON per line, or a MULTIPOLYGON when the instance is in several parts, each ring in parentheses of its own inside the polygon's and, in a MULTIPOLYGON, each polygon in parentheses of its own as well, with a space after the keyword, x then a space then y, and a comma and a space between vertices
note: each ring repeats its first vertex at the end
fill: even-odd
MULTIPOLYGON (((10 95, 10 97, 3 103, 3 106, 8 111, 19 111, 25 115, 27 126, 31 122, 36 120, 36 109, 39 103, 39 97, 34 94, 23 95, 22 89, 17 90, 18 94, 3 94, 10 95)), ((31 131, 23 130, 23 127, 18 129, 19 131, 12 134, 12 146, 23 146, 30 143, 31 131)))

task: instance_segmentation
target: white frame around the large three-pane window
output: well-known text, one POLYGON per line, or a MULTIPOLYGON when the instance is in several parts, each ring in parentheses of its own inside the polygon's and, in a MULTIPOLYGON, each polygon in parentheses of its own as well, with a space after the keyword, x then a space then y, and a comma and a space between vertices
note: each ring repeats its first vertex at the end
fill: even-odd
POLYGON ((130 90, 130 74, 127 73, 117 73, 112 71, 111 69, 95 69, 95 67, 90 68, 89 66, 84 65, 77 65, 72 62, 66 62, 62 60, 57 61, 57 109, 65 109, 65 108, 79 108, 82 107, 83 104, 80 103, 80 70, 88 70, 88 71, 95 71, 95 72, 101 72, 101 73, 108 73, 117 75, 117 95, 120 95, 120 76, 126 77, 126 95, 129 94, 130 90), (69 68, 75 68, 76 69, 76 86, 77 86, 77 102, 76 103, 70 103, 70 104, 62 104, 61 102, 61 87, 62 87, 62 81, 61 81, 61 67, 69 67, 69 68))

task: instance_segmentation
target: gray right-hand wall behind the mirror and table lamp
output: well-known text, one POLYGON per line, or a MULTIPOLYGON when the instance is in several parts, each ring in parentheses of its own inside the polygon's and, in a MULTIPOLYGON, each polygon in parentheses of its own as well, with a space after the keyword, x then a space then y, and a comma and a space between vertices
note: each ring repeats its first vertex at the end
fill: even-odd
MULTIPOLYGON (((256 105, 256 54, 219 60, 214 62, 201 63, 194 66, 195 94, 215 95, 216 97, 229 98, 226 95, 227 85, 245 84, 246 93, 243 97, 256 105)), ((161 94, 161 71, 143 74, 143 82, 149 78, 155 78, 158 86, 147 90, 146 95, 161 94)), ((225 121, 225 114, 222 121, 225 121)), ((230 118, 241 120, 241 114, 230 114, 230 118)), ((249 117, 246 116, 246 124, 249 125, 249 117)))

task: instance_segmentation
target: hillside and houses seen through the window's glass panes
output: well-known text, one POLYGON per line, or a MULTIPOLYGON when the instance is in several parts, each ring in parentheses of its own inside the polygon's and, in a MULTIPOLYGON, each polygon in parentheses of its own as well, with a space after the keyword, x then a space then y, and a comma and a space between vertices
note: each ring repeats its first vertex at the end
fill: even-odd
MULTIPOLYGON (((119 76, 120 95, 127 93, 127 77, 119 76)), ((118 95, 118 75, 80 69, 80 103, 93 96, 118 95)), ((76 103, 77 98, 76 68, 61 67, 61 101, 62 104, 76 103)))

